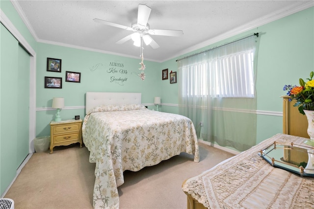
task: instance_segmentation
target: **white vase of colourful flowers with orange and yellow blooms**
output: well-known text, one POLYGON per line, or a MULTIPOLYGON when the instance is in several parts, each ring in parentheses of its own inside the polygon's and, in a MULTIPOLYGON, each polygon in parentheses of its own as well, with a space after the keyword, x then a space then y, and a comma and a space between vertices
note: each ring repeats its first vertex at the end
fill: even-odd
POLYGON ((300 86, 285 85, 284 91, 288 91, 287 95, 291 98, 289 101, 295 101, 293 106, 298 107, 301 114, 305 114, 308 119, 308 134, 310 139, 304 143, 314 146, 314 80, 312 80, 314 72, 310 73, 310 78, 305 82, 299 79, 300 86))

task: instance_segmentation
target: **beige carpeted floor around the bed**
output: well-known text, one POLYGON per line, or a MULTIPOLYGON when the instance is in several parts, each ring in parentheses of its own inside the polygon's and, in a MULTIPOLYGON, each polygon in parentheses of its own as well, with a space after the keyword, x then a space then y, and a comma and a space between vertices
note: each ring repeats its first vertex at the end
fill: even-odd
MULTIPOLYGON (((186 209, 183 181, 232 156, 200 143, 199 163, 182 153, 138 172, 125 171, 118 187, 120 209, 186 209)), ((92 209, 95 163, 88 158, 87 148, 78 144, 34 153, 4 198, 13 199, 15 209, 92 209)))

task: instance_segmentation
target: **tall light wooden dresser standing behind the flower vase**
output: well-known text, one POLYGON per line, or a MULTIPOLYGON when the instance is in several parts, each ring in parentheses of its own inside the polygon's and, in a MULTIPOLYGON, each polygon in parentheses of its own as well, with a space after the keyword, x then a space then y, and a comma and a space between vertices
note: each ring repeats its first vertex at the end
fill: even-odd
POLYGON ((293 106, 293 101, 289 102, 289 96, 283 98, 283 133, 310 138, 308 135, 308 120, 302 115, 298 107, 293 106))

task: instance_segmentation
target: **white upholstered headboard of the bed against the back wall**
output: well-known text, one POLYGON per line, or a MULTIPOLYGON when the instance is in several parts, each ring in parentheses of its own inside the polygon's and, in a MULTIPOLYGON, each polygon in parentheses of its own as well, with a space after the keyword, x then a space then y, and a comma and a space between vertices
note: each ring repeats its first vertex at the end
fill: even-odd
POLYGON ((141 93, 86 92, 85 113, 95 106, 108 104, 142 104, 141 93))

